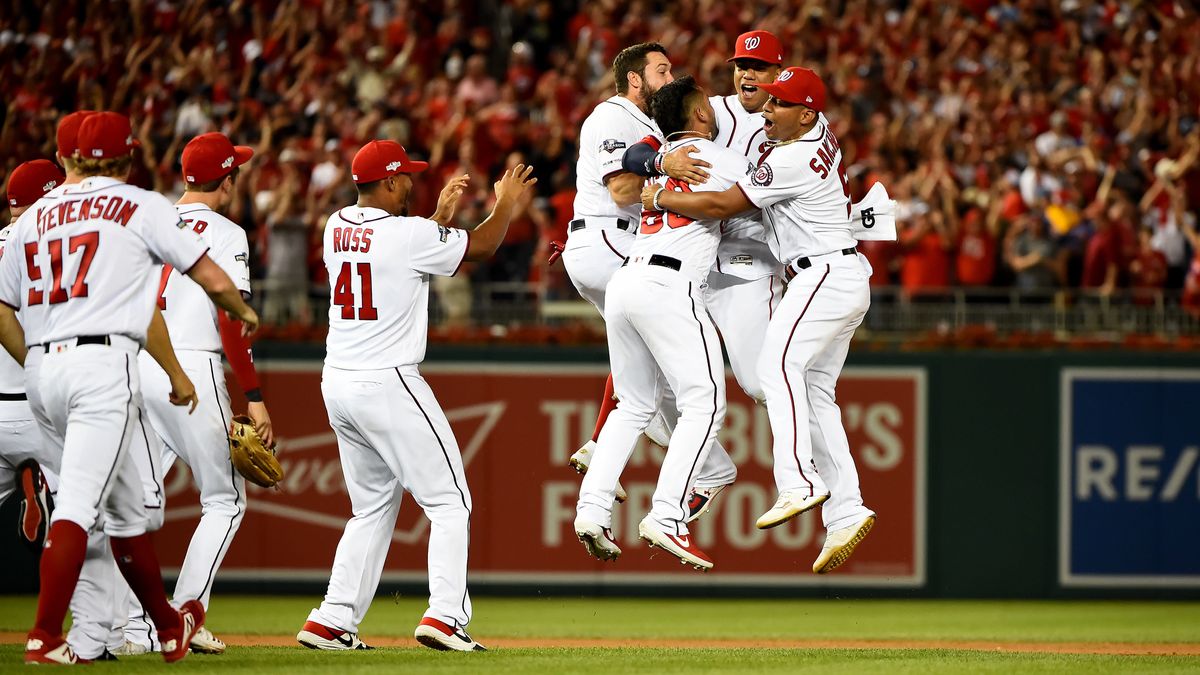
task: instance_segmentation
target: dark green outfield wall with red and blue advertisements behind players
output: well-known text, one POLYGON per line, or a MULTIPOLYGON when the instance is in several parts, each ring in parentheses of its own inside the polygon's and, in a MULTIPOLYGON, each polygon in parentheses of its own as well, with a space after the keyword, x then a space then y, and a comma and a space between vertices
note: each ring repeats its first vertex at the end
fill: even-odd
MULTIPOLYGON (((259 350, 288 479, 281 491, 251 489, 226 584, 312 590, 328 577, 349 503, 320 401, 319 356, 259 350)), ((602 351, 443 350, 422 371, 462 447, 480 589, 1200 596, 1200 356, 852 354, 839 402, 880 521, 828 577, 809 572, 822 540, 818 514, 754 528, 775 496, 769 424, 732 377, 721 441, 740 476, 697 524, 697 540, 716 561, 698 574, 636 542, 661 460, 644 442, 623 477, 630 503, 614 514, 626 555, 601 565, 575 542, 578 478, 565 462, 590 432, 602 351)), ((167 494, 158 544, 164 561, 179 561, 199 515, 186 471, 168 477, 167 494)), ((427 530, 407 502, 388 587, 424 584, 427 530)), ((0 590, 28 589, 28 554, 12 548, 11 534, 2 546, 5 567, 18 573, 4 575, 0 590)))

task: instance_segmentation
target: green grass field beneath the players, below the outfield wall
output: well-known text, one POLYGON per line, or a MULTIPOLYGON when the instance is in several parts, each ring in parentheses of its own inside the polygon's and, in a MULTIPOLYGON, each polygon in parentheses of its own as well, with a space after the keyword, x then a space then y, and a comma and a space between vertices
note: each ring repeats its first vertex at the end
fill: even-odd
MULTIPOLYGON (((216 597, 209 627, 224 637, 294 635, 319 597, 216 597)), ((0 598, 0 632, 32 622, 30 597, 0 598)), ((300 646, 233 646, 223 656, 192 655, 174 669, 227 673, 1200 673, 1196 656, 1117 656, 995 651, 979 643, 1045 649, 1050 644, 1163 644, 1200 651, 1200 603, 962 602, 962 601, 671 601, 491 598, 475 601, 472 634, 487 653, 442 653, 415 647, 412 631, 424 598, 379 598, 360 635, 413 647, 371 652, 312 652, 300 646), (504 646, 610 640, 604 647, 504 646), (721 647, 698 647, 707 640, 721 647), (738 643, 887 640, 888 649, 778 649, 738 643), (937 641, 941 649, 894 649, 898 641, 937 641), (635 641, 637 646, 622 646, 635 641), (661 641, 661 646, 654 643, 661 641), (955 645, 954 643, 961 643, 955 645), (968 644, 970 643, 970 644, 968 644), (1001 644, 1002 643, 1002 644, 1001 644), (686 645, 686 647, 685 647, 686 645), (965 649, 965 647, 972 649, 965 649)), ((0 670, 19 667, 22 647, 0 646, 0 670)), ((928 645, 925 645, 928 646, 928 645)), ((1088 645, 1084 645, 1088 649, 1088 645)), ((1088 650, 1090 651, 1090 650, 1088 650)), ((1183 650, 1181 650, 1183 651, 1183 650)), ((157 656, 126 657, 96 668, 157 670, 157 656)))

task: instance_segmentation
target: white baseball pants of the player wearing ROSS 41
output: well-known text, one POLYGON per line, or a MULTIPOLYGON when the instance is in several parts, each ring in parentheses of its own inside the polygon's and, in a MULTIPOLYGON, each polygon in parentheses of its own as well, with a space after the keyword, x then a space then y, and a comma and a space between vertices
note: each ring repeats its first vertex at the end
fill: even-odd
POLYGON ((386 370, 325 366, 320 390, 354 516, 337 543, 325 601, 310 621, 358 632, 379 586, 407 491, 430 519, 430 609, 425 616, 470 621, 467 549, 470 492, 458 442, 415 365, 386 370))

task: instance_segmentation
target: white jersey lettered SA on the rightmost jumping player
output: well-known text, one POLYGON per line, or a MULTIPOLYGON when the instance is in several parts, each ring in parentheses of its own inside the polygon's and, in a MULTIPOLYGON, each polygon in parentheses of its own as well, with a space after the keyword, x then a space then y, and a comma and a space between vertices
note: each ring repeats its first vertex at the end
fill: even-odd
POLYGON ((841 147, 823 114, 803 137, 769 148, 738 186, 762 209, 772 251, 784 263, 857 245, 841 147))

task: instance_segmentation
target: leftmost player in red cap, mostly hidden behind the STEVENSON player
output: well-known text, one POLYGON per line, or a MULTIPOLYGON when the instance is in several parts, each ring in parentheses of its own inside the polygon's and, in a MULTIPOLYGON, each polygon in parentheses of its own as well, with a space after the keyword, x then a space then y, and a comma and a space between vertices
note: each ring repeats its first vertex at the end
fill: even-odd
MULTIPOLYGON (((32 160, 14 168, 8 175, 6 190, 8 213, 13 220, 47 192, 62 185, 65 178, 62 169, 49 160, 32 160)), ((11 231, 11 222, 0 229, 0 257, 11 231)), ((10 321, 16 319, 12 315, 5 316, 11 317, 10 321)), ((42 443, 42 434, 25 395, 25 371, 16 360, 0 356, 0 503, 19 489, 22 538, 38 549, 49 526, 50 490, 46 483, 58 483, 58 477, 49 471, 54 466, 52 461, 53 454, 42 443)))

